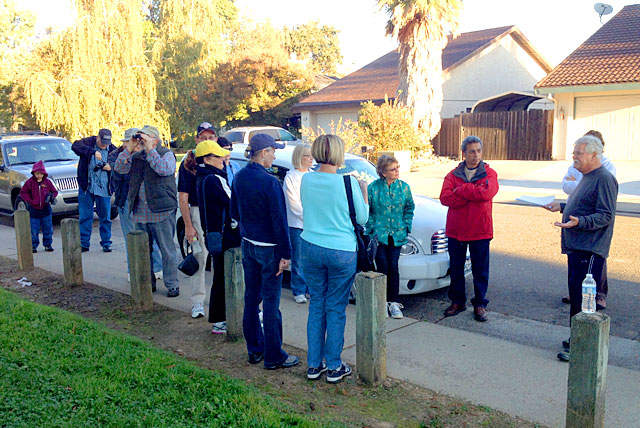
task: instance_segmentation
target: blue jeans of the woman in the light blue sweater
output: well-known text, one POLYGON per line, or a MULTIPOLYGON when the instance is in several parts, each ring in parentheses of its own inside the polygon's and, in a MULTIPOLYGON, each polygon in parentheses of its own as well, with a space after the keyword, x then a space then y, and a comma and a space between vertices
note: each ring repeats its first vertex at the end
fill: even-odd
POLYGON ((302 239, 302 269, 311 296, 307 319, 309 367, 321 367, 325 359, 329 370, 337 370, 342 364, 346 310, 356 262, 355 251, 331 250, 302 239))

